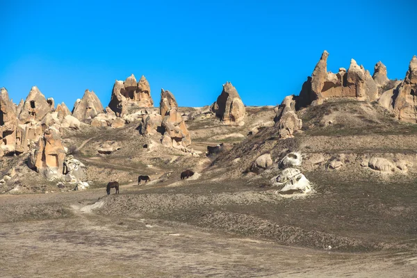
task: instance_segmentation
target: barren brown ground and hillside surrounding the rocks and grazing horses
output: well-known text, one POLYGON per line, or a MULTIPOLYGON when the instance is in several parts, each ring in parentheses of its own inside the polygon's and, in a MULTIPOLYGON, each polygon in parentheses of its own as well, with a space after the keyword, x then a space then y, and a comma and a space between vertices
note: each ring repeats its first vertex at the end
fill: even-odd
POLYGON ((46 181, 25 156, 1 158, 0 174, 17 174, 0 186, 0 277, 416 277, 416 125, 375 104, 330 101, 300 111, 303 131, 279 140, 277 126, 261 126, 270 107, 248 108, 243 126, 182 109, 195 150, 225 150, 188 156, 162 147, 161 134, 140 136, 137 122, 65 131, 86 165, 82 192, 46 181), (121 149, 98 154, 107 140, 121 149), (270 187, 288 150, 302 152, 313 195, 270 187), (247 172, 265 153, 274 165, 247 172), (361 166, 371 156, 410 166, 382 174, 361 166), (343 167, 329 169, 333 159, 343 167), (186 169, 201 177, 181 181, 186 169), (152 181, 137 186, 139 174, 152 181), (111 180, 120 195, 106 195, 111 180))

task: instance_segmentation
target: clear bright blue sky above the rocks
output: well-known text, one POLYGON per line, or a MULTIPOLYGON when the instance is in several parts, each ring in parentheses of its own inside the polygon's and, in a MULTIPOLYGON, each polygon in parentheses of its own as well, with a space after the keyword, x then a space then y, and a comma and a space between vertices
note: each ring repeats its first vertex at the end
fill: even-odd
POLYGON ((33 85, 72 108, 85 89, 108 105, 115 79, 147 77, 180 106, 212 104, 231 81, 246 105, 298 94, 322 51, 327 70, 379 60, 403 79, 417 55, 417 1, 0 0, 0 87, 33 85))

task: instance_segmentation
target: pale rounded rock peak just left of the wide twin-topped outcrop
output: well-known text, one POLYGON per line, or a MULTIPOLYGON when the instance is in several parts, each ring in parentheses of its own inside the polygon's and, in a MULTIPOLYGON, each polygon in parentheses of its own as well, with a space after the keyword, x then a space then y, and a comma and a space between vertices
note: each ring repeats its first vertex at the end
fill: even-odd
POLYGON ((103 113, 104 108, 95 92, 85 90, 83 98, 77 99, 72 115, 81 122, 90 122, 97 114, 103 113))

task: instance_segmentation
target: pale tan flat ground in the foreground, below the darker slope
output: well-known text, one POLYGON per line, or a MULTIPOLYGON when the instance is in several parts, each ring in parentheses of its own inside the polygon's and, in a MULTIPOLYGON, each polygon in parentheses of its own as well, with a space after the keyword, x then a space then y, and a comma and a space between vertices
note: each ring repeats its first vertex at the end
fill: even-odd
POLYGON ((103 197, 103 189, 0 196, 0 277, 415 277, 417 273, 416 250, 340 253, 283 246, 140 214, 95 213, 91 204, 119 196, 97 202, 98 197, 103 197))

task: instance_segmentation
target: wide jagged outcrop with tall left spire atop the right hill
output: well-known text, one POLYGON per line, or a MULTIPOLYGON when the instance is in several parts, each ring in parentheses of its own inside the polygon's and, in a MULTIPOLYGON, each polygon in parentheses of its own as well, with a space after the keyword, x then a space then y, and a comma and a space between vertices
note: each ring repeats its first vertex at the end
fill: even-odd
POLYGON ((327 72, 327 57, 324 51, 313 74, 302 87, 297 97, 297 109, 310 104, 321 104, 323 100, 333 97, 347 97, 362 101, 375 101, 378 98, 377 83, 370 72, 357 65, 352 59, 346 71, 341 67, 337 74, 327 72))

